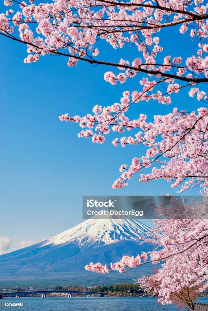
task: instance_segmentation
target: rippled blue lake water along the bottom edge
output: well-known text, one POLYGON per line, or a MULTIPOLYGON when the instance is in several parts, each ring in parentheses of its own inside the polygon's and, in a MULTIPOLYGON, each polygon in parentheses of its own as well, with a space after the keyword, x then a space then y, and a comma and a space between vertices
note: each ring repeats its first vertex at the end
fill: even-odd
MULTIPOLYGON (((208 297, 198 301, 208 304, 208 297)), ((1 311, 173 311, 173 305, 157 303, 157 297, 22 297, 0 299, 25 303, 25 307, 0 307, 1 311)))

